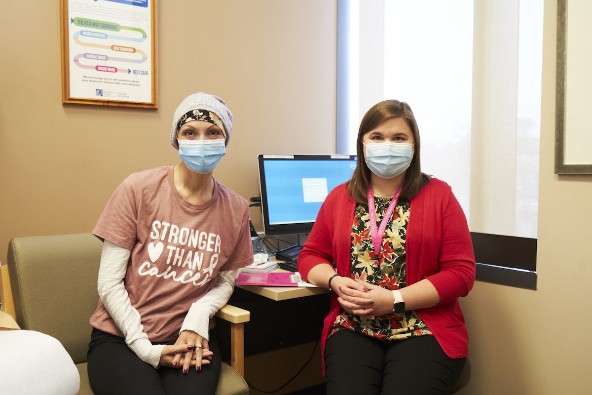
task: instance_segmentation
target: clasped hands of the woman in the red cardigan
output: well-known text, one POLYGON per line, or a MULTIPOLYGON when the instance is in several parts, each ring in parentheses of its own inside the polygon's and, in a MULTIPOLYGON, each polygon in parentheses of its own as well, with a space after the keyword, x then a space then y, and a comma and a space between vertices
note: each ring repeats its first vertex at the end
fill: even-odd
POLYGON ((337 301, 348 313, 368 320, 392 313, 395 298, 387 288, 349 277, 333 278, 332 288, 337 301))

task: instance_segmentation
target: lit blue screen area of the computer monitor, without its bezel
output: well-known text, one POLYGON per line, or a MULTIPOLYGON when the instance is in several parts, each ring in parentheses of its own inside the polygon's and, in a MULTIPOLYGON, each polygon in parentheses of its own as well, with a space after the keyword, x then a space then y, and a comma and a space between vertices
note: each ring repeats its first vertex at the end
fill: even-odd
POLYGON ((269 224, 314 222, 329 192, 348 181, 355 160, 263 160, 269 224))

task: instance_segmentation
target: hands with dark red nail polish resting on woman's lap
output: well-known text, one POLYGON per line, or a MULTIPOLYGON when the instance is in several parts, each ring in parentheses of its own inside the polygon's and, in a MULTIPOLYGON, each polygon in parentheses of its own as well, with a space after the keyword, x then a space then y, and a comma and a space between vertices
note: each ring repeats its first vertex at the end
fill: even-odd
POLYGON ((213 352, 208 341, 192 330, 183 330, 175 344, 165 346, 160 354, 160 366, 181 369, 188 374, 189 368, 200 371, 202 365, 209 365, 213 352), (201 345, 201 347, 200 347, 201 345))

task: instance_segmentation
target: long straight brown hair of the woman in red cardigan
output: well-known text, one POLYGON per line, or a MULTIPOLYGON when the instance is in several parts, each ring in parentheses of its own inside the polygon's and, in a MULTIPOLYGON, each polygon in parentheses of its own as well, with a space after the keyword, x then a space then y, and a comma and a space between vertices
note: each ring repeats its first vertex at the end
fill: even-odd
POLYGON ((381 101, 370 108, 362 118, 360 129, 358 131, 358 141, 356 142, 356 151, 358 154, 358 165, 353 171, 352 178, 348 181, 348 193, 356 203, 368 203, 368 185, 370 185, 370 169, 366 165, 363 152, 363 137, 366 133, 377 127, 382 122, 390 118, 403 118, 415 140, 415 153, 411 160, 411 165, 406 171, 405 183, 401 191, 401 199, 411 199, 422 190, 422 187, 430 182, 429 176, 422 173, 420 166, 419 153, 419 128, 411 107, 406 102, 398 100, 381 101))

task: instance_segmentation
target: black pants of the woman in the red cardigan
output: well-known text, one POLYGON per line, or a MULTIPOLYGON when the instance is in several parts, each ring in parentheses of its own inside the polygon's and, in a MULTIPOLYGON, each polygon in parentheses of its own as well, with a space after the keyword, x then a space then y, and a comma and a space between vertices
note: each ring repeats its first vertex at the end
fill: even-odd
POLYGON ((384 342, 340 330, 325 346, 327 394, 448 394, 466 358, 449 358, 433 336, 384 342))

